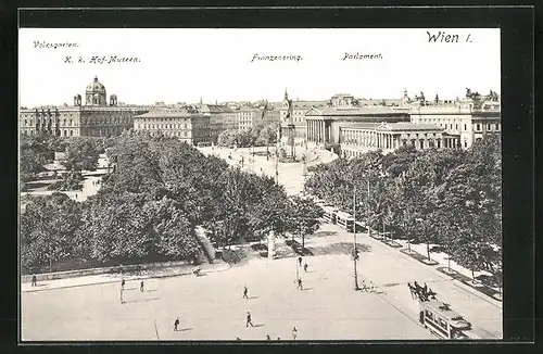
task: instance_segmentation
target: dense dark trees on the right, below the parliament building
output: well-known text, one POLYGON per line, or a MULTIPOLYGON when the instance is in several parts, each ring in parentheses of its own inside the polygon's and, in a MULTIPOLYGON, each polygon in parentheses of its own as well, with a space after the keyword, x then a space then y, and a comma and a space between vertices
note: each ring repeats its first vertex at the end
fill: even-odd
POLYGON ((394 238, 440 244, 450 260, 500 273, 502 160, 500 137, 469 150, 403 147, 312 167, 308 193, 343 211, 359 201, 356 219, 394 238), (369 188, 368 188, 369 187, 369 188))

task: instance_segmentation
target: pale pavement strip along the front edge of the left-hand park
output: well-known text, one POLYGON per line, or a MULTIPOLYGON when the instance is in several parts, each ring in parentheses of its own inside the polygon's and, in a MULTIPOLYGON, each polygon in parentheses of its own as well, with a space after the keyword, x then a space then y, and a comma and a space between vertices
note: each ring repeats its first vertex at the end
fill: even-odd
MULTIPOLYGON (((215 273, 230 269, 230 265, 222 260, 215 260, 213 264, 202 264, 200 268, 203 273, 215 273)), ((194 266, 162 268, 141 270, 139 273, 125 274, 125 280, 140 280, 140 279, 157 279, 168 277, 179 277, 192 275, 194 266)), ((74 287, 85 287, 93 285, 103 285, 112 282, 121 282, 121 274, 102 274, 97 276, 87 276, 78 278, 56 279, 38 282, 37 287, 31 287, 31 283, 25 282, 21 285, 21 292, 35 292, 52 289, 65 289, 74 287)))

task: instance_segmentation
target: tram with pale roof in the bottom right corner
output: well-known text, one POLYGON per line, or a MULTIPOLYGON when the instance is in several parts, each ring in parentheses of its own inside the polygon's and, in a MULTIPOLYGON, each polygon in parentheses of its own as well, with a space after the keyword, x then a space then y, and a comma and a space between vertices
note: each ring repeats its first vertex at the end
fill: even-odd
POLYGON ((419 321, 440 339, 495 339, 492 333, 481 328, 472 327, 469 321, 452 311, 449 305, 438 300, 420 302, 419 321))

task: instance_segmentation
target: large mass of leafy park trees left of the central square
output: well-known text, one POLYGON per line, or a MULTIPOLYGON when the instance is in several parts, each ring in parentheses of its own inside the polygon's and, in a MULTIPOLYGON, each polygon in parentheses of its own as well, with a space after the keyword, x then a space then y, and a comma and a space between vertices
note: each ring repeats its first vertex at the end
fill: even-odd
POLYGON ((288 198, 273 178, 229 167, 177 139, 127 131, 106 154, 115 169, 96 195, 83 203, 60 193, 28 202, 21 229, 26 269, 73 258, 103 265, 193 260, 201 252, 197 226, 218 246, 318 227, 320 210, 311 200, 288 198))

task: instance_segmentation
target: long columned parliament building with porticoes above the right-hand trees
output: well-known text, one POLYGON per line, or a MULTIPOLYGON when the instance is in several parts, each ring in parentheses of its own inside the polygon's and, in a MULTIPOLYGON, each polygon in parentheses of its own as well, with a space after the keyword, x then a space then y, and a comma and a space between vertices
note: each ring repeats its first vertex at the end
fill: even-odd
POLYGON ((501 134, 500 99, 483 97, 480 106, 470 98, 428 102, 404 96, 397 100, 367 101, 340 93, 310 102, 294 112, 285 93, 281 115, 283 146, 340 144, 344 157, 369 150, 384 153, 404 146, 416 149, 468 149, 489 135, 501 134))

